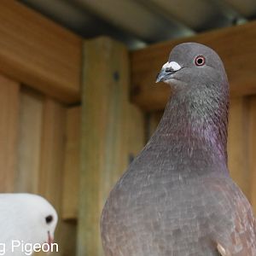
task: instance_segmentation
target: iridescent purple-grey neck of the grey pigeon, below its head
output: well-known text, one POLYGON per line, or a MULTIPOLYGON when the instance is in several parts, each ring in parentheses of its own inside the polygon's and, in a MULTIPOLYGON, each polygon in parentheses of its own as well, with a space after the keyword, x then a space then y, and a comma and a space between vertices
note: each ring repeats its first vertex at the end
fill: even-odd
POLYGON ((227 97, 177 92, 167 103, 150 144, 166 148, 172 158, 190 159, 193 166, 201 160, 226 166, 228 105, 227 97))

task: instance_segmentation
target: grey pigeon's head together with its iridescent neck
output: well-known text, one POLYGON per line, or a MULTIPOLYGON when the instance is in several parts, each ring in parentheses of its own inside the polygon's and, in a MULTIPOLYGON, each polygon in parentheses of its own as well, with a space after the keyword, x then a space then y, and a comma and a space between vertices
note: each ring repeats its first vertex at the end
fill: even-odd
POLYGON ((172 86, 172 96, 160 122, 161 132, 172 131, 172 138, 178 140, 182 133, 184 151, 191 148, 192 152, 195 143, 199 148, 204 141, 208 148, 216 148, 218 159, 226 161, 230 96, 218 54, 202 44, 178 44, 161 68, 156 79, 160 81, 172 86))

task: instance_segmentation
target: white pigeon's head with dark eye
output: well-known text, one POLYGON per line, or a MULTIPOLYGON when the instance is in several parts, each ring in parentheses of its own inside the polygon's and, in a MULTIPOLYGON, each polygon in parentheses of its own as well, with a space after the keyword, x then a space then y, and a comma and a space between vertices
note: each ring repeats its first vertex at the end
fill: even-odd
POLYGON ((5 208, 3 225, 13 240, 51 243, 58 216, 55 208, 39 195, 1 194, 0 208, 5 208))

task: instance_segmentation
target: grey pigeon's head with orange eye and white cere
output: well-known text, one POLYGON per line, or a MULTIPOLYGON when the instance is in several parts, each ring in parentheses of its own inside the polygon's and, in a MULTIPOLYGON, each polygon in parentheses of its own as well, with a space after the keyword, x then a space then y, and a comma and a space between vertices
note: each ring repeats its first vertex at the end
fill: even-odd
POLYGON ((227 77, 217 53, 203 44, 183 43, 172 49, 156 83, 163 81, 174 90, 226 90, 227 77))

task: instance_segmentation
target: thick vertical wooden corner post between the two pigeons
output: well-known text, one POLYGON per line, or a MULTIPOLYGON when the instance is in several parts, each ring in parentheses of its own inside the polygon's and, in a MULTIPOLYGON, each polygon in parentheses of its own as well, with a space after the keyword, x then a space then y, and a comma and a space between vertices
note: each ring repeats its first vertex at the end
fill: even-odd
POLYGON ((143 147, 143 114, 129 102, 129 75, 128 52, 122 44, 108 38, 84 43, 79 256, 102 255, 103 204, 143 147))

